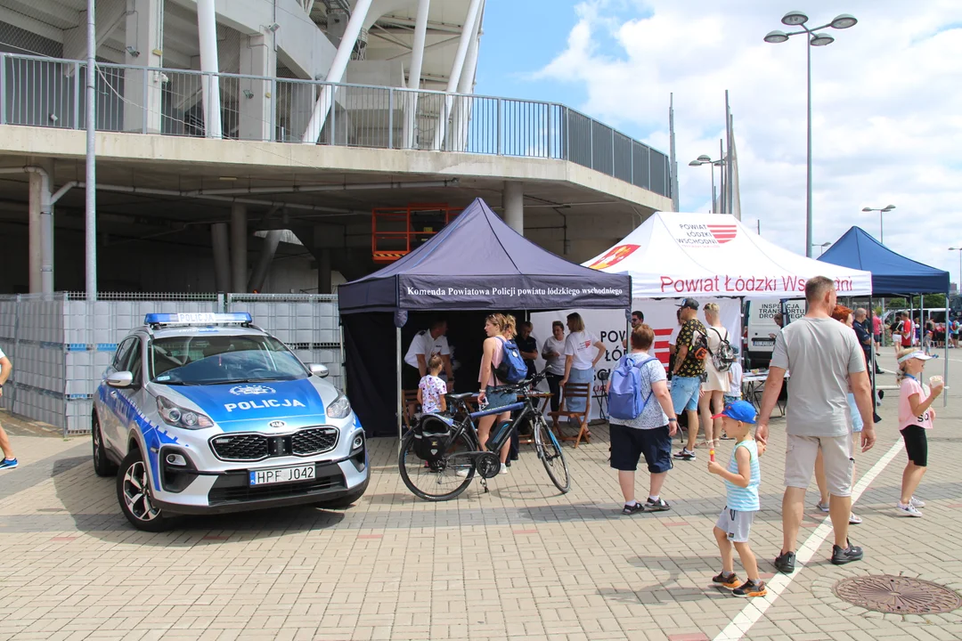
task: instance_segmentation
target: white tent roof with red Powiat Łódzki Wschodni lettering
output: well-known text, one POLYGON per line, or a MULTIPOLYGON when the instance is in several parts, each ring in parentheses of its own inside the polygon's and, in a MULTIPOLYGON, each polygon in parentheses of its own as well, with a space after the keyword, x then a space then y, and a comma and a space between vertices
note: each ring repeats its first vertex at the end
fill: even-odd
POLYGON ((657 211, 584 264, 629 274, 635 298, 797 298, 815 276, 833 279, 846 295, 872 291, 869 272, 799 256, 730 214, 657 211))

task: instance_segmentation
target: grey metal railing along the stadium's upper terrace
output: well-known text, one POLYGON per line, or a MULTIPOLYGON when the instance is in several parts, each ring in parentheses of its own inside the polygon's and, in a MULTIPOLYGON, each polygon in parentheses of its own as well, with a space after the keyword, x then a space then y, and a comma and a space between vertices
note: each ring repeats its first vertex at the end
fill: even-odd
MULTIPOLYGON (((81 128, 85 74, 83 61, 0 53, 0 124, 81 128)), ((317 144, 570 160, 671 197, 665 154, 541 101, 98 62, 97 129, 207 136, 205 89, 220 96, 211 137, 300 143, 326 89, 317 144)))

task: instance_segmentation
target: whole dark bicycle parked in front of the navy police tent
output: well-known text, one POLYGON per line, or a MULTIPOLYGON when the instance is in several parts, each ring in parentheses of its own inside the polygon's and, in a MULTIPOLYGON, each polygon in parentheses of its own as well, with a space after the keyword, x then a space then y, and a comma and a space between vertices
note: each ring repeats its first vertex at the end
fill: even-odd
POLYGON ((535 407, 537 400, 530 396, 534 386, 543 379, 544 373, 515 385, 502 385, 498 389, 517 393, 519 402, 475 412, 469 411, 467 404, 473 394, 448 394, 445 398, 449 414, 422 415, 401 441, 397 466, 404 484, 426 501, 448 501, 468 489, 477 474, 487 492, 487 480, 497 476, 501 469, 497 453, 527 419, 534 429, 535 451, 547 476, 563 494, 568 492, 571 477, 565 454, 535 407), (521 411, 514 421, 502 421, 492 427, 486 450, 482 450, 474 419, 516 409, 521 411))

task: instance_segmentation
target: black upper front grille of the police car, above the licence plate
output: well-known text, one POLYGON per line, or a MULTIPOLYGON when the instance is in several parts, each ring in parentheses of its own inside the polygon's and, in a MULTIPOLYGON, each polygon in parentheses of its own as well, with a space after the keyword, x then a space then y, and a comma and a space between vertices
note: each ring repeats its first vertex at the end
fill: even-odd
POLYGON ((315 427, 292 434, 221 434, 211 449, 221 460, 264 460, 274 456, 313 456, 333 450, 337 428, 315 427))

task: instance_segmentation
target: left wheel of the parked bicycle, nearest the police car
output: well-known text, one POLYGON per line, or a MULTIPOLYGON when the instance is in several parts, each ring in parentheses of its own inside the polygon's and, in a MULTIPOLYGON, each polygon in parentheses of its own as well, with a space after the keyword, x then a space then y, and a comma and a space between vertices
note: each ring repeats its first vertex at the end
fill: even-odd
POLYGON ((424 466, 424 460, 414 451, 415 434, 408 431, 401 441, 397 467, 401 479, 415 496, 425 501, 448 501, 464 492, 474 480, 474 461, 467 456, 475 452, 474 442, 462 432, 438 461, 424 466), (459 476, 458 472, 467 476, 459 476))

